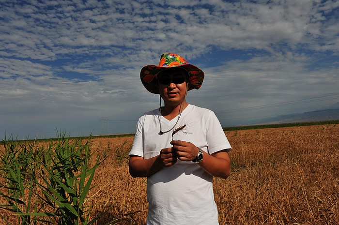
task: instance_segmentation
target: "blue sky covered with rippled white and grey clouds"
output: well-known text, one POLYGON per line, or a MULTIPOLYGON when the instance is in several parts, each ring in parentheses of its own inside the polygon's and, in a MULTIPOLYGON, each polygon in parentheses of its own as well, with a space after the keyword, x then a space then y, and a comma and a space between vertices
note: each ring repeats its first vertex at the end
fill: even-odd
POLYGON ((139 72, 174 52, 223 126, 339 102, 336 0, 0 0, 0 139, 121 134, 159 107, 139 72))

